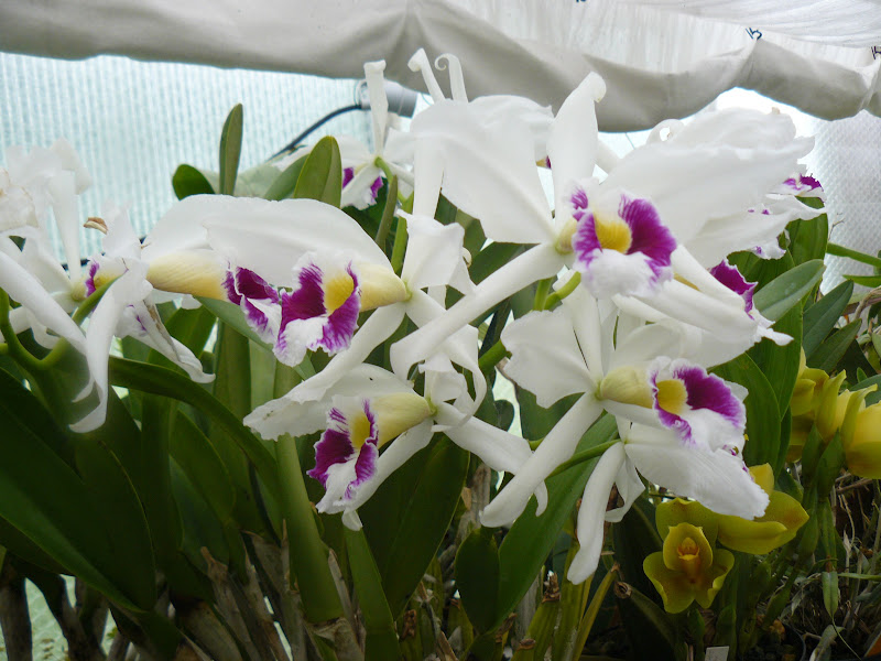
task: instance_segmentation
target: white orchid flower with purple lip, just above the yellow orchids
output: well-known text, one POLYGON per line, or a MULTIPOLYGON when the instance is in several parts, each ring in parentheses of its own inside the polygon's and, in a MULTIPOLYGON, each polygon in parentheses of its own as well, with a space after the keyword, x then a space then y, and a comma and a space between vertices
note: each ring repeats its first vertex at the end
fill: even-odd
MULTIPOLYGON (((736 510, 744 518, 760 516, 766 506, 763 492, 748 474, 741 479, 731 469, 738 464, 738 472, 743 473, 739 453, 746 423, 744 392, 705 369, 727 356, 699 365, 694 356, 707 359, 713 355, 711 338, 706 334, 672 322, 646 326, 614 310, 603 315, 600 308, 600 303, 579 290, 557 310, 530 313, 502 333, 502 342, 512 353, 505 375, 535 393, 541 405, 583 394, 487 507, 483 524, 503 525, 516 519, 531 494, 572 457, 578 440, 603 410, 616 415, 626 443, 608 449, 595 468, 581 518, 596 518, 598 502, 605 516, 608 491, 616 483, 624 505, 608 520, 620 519, 643 490, 637 470, 681 496, 703 497, 701 489, 713 484, 715 463, 719 464, 719 479, 728 480, 724 485, 730 500, 726 513, 736 510), (554 342, 546 342, 547 337, 554 342), (708 346, 700 347, 701 343, 708 346), (630 433, 631 423, 639 423, 633 425, 638 433, 630 433), (654 448, 653 454, 646 454, 646 447, 654 448), (689 481, 685 476, 690 473, 700 477, 689 481), (672 476, 670 481, 664 481, 666 476, 672 476)), ((716 483, 716 487, 722 485, 716 483)), ((581 553, 598 559, 598 552, 591 551, 596 544, 589 541, 596 534, 596 527, 579 522, 581 553)), ((592 573, 596 562, 591 562, 586 565, 587 574, 576 572, 576 578, 583 581, 592 573)), ((570 579, 576 578, 570 574, 570 579)))

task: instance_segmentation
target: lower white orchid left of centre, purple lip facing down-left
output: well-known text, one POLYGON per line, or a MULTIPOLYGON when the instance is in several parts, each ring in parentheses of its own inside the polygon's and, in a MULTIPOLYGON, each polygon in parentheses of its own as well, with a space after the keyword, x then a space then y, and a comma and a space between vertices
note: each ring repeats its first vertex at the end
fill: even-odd
MULTIPOLYGON (((270 438, 325 430, 315 446, 316 465, 308 470, 325 488, 316 507, 320 512, 344 512, 347 525, 360 528, 356 510, 435 432, 445 432, 496 470, 516 472, 526 460, 531 451, 523 438, 476 419, 461 422, 460 408, 467 410, 470 403, 463 376, 445 355, 435 354, 425 366, 424 395, 382 368, 359 365, 323 397, 292 403, 283 423, 254 425, 252 416, 244 422, 270 438)), ((543 485, 536 497, 546 502, 543 485)))

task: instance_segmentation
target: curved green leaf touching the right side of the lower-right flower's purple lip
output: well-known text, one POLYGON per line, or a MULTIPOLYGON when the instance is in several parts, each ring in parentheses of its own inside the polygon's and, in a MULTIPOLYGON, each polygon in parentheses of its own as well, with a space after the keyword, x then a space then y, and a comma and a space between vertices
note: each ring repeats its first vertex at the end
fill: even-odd
POLYGON ((762 370, 746 354, 717 367, 715 373, 740 383, 749 394, 747 408, 747 436, 743 458, 748 466, 771 464, 776 466, 780 455, 780 407, 774 389, 762 370))

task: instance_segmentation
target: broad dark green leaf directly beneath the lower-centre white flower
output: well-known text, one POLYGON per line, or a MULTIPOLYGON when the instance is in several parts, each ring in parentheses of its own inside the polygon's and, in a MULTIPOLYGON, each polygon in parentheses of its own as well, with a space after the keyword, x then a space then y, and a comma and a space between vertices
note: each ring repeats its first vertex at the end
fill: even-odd
POLYGON ((468 462, 467 452, 442 438, 399 468, 359 510, 393 614, 406 605, 444 539, 468 462))

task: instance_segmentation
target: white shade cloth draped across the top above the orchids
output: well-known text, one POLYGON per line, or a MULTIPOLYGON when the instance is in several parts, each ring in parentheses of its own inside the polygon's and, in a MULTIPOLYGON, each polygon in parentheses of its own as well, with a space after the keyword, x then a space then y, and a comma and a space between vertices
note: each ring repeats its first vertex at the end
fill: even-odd
POLYGON ((0 50, 390 78, 457 54, 471 96, 521 94, 557 108, 591 71, 609 94, 600 128, 649 128, 719 93, 755 89, 811 115, 881 115, 878 0, 9 0, 0 50))

